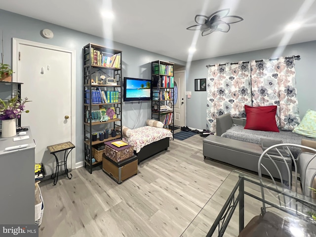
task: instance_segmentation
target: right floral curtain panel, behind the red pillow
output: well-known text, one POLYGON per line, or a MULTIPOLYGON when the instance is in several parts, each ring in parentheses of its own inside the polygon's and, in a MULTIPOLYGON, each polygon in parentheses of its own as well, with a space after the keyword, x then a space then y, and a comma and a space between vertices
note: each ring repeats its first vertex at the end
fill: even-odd
POLYGON ((284 130, 300 123, 294 62, 293 56, 250 63, 253 106, 278 106, 276 124, 284 130))

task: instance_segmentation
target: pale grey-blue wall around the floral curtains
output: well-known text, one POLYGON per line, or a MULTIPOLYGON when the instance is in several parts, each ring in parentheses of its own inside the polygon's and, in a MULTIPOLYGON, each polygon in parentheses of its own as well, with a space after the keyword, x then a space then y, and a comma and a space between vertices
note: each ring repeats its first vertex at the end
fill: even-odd
POLYGON ((300 117, 303 118, 308 109, 316 110, 316 41, 288 45, 283 52, 275 55, 276 48, 238 53, 216 58, 197 60, 187 67, 186 90, 192 91, 192 98, 186 99, 187 126, 206 128, 206 91, 194 91, 194 79, 207 78, 206 65, 215 63, 260 60, 272 55, 300 55, 296 60, 296 85, 300 117))

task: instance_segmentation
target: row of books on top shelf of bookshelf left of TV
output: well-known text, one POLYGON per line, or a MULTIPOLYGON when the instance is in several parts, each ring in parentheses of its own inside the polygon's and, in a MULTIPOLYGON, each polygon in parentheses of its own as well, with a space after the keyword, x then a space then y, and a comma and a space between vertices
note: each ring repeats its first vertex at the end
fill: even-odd
POLYGON ((91 64, 108 68, 120 68, 120 54, 110 56, 109 53, 91 48, 91 64))

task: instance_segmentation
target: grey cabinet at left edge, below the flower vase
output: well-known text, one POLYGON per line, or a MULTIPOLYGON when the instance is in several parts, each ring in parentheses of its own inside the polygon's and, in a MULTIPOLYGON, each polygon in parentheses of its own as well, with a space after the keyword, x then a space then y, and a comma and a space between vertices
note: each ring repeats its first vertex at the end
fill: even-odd
POLYGON ((29 139, 0 138, 0 223, 35 224, 35 143, 30 127, 29 139), (28 144, 24 149, 7 147, 28 144))

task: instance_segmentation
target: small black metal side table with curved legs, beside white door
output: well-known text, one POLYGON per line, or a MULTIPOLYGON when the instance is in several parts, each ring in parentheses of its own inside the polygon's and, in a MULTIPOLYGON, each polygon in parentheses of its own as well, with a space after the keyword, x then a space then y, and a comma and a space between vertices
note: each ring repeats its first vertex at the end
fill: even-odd
POLYGON ((51 179, 54 180, 54 185, 57 184, 58 181, 58 173, 59 173, 59 166, 64 165, 65 168, 65 173, 67 174, 68 179, 71 179, 73 177, 72 174, 68 174, 68 168, 67 168, 67 158, 69 153, 75 148, 75 145, 72 144, 71 142, 64 142, 64 143, 60 143, 60 144, 56 144, 56 145, 52 145, 52 146, 48 146, 47 149, 50 152, 50 154, 53 154, 54 157, 56 158, 56 170, 55 173, 51 175, 51 179), (69 150, 69 151, 68 151, 69 150), (59 161, 56 153, 58 152, 62 152, 65 151, 65 155, 64 155, 64 160, 59 161), (68 151, 68 153, 67 153, 68 151), (67 156, 66 156, 67 154, 67 156))

